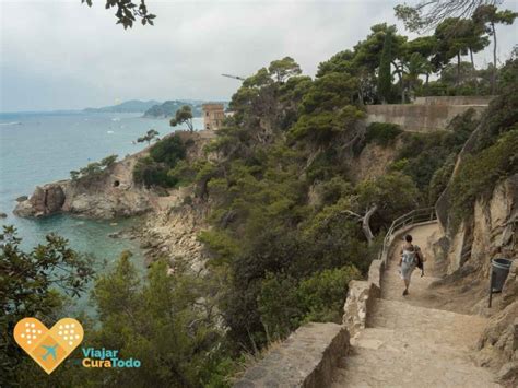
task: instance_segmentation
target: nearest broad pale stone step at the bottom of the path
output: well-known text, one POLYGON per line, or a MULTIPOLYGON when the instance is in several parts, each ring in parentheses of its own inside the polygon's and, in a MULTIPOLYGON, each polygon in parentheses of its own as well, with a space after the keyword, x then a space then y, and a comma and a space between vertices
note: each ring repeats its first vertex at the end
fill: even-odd
POLYGON ((499 387, 467 352, 409 339, 392 329, 365 329, 331 387, 499 387))

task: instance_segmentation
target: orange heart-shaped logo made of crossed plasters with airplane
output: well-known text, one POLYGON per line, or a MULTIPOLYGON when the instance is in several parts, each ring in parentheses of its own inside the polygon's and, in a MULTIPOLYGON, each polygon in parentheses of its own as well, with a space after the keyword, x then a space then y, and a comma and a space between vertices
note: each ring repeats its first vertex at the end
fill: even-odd
POLYGON ((16 343, 49 375, 83 341, 83 327, 73 318, 60 319, 49 330, 36 318, 14 327, 16 343))

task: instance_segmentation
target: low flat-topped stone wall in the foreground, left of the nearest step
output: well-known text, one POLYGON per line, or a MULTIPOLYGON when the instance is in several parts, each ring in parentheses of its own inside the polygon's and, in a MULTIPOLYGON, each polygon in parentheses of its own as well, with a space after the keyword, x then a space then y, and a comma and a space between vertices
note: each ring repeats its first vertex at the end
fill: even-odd
POLYGON ((306 324, 249 367, 234 387, 328 387, 348 351, 343 326, 306 324))

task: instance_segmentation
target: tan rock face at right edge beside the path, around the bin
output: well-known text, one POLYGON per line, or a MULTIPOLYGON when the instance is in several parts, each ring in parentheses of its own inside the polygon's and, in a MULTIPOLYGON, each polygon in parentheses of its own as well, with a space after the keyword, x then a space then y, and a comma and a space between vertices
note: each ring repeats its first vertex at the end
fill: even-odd
MULTIPOLYGON (((518 174, 499 183, 490 198, 480 198, 473 213, 458 228, 448 224, 448 207, 440 209, 444 237, 435 251, 447 275, 437 286, 462 293, 462 308, 490 316, 479 341, 479 363, 498 372, 502 381, 518 383, 518 174), (513 262, 502 294, 487 307, 491 260, 513 262), (469 293, 467 292, 469 290, 469 293), (469 296, 469 297, 467 297, 469 296)), ((460 303, 460 299, 459 299, 460 303)))

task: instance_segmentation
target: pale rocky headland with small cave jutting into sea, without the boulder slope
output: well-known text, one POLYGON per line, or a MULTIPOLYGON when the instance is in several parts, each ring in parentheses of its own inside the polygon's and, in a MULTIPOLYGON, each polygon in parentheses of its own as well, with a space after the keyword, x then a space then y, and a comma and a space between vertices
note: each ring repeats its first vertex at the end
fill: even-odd
MULTIPOLYGON (((208 131, 176 133, 188 144, 187 161, 204 157, 203 146, 214 137, 208 131)), ((169 191, 174 190, 146 188, 133 179, 136 164, 149 152, 150 148, 146 148, 93 176, 38 186, 30 198, 16 204, 13 212, 22 217, 42 217, 62 212, 110 220, 160 211, 167 202, 169 191)))

